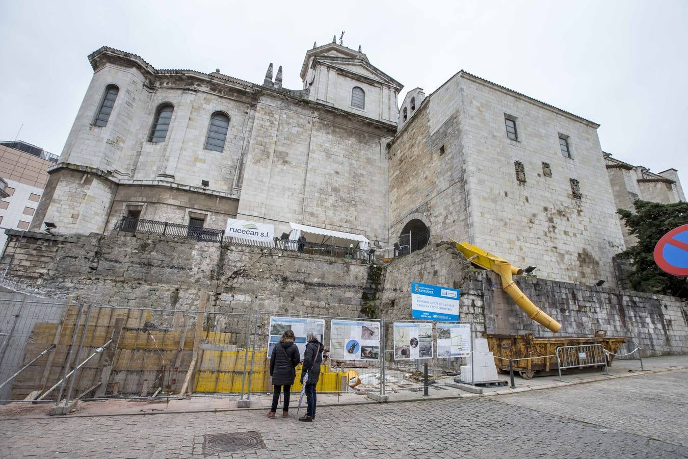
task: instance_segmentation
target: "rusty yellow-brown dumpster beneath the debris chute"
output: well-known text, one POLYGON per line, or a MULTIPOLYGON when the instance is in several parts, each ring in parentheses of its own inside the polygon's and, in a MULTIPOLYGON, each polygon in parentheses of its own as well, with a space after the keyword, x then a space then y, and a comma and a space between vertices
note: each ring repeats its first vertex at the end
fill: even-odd
MULTIPOLYGON (((560 346, 601 344, 605 350, 616 353, 626 341, 622 337, 607 337, 603 332, 596 333, 594 337, 534 337, 532 333, 483 333, 483 337, 487 339, 488 348, 495 356, 497 371, 502 374, 508 373, 508 359, 524 359, 514 361, 513 369, 526 379, 533 378, 539 373, 557 370, 555 352, 560 346)), ((607 365, 611 365, 613 359, 613 355, 608 355, 607 365)))

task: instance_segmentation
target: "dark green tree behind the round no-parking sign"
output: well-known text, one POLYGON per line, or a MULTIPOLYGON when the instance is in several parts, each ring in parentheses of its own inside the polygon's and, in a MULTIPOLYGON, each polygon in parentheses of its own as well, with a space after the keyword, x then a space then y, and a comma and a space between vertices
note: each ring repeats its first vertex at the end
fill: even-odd
POLYGON ((660 204, 637 200, 634 202, 636 213, 619 209, 616 211, 638 243, 617 257, 630 259, 636 270, 630 275, 635 290, 641 292, 671 295, 688 299, 688 279, 670 275, 661 270, 654 262, 653 252, 660 237, 672 229, 688 224, 688 203, 660 204))

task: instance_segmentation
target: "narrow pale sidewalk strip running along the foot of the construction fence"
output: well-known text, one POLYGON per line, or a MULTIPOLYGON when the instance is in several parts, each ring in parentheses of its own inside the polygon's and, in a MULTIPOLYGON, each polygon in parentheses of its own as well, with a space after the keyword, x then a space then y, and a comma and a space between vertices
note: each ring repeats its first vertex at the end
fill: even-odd
MULTIPOLYGON (((538 389, 550 389, 552 387, 567 387, 582 383, 592 383, 594 381, 608 381, 614 378, 625 378, 632 376, 643 376, 657 372, 667 372, 671 370, 684 370, 688 368, 688 355, 673 355, 651 357, 643 359, 641 370, 639 361, 624 361, 616 359, 609 367, 609 375, 600 373, 599 370, 588 370, 569 372, 563 374, 563 381, 559 381, 559 376, 541 376, 530 380, 515 376, 515 389, 507 387, 492 387, 482 389, 482 394, 466 392, 456 387, 449 387, 447 384, 453 383, 452 376, 435 378, 437 384, 429 387, 429 396, 423 396, 421 389, 398 390, 387 392, 387 401, 407 402, 438 400, 442 398, 473 398, 484 396, 499 396, 514 394, 538 389)), ((502 381, 508 381, 508 375, 499 375, 502 381)), ((78 403, 76 411, 69 414, 75 416, 120 416, 134 414, 171 414, 171 413, 197 413, 197 412, 223 412, 241 411, 247 409, 268 410, 272 401, 272 394, 251 394, 250 407, 238 408, 236 395, 220 396, 196 396, 193 398, 158 397, 153 400, 141 399, 120 399, 107 401, 89 401, 78 403)), ((290 412, 294 416, 297 412, 299 394, 293 393, 291 396, 290 412)), ((318 406, 336 405, 360 405, 367 403, 378 403, 369 398, 365 392, 343 392, 341 394, 318 394, 318 406)), ((48 418, 47 412, 54 403, 32 405, 26 402, 14 402, 0 406, 0 420, 14 418, 48 418)), ((305 398, 303 400, 301 412, 305 413, 305 398)))

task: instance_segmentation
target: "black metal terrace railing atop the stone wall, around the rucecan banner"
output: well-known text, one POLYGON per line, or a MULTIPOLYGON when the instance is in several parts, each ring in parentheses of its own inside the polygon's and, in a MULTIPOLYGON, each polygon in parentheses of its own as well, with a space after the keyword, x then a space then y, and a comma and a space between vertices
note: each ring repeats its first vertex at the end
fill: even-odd
POLYGON ((125 233, 179 237, 200 242, 217 242, 219 244, 227 244, 228 246, 289 250, 291 252, 306 253, 310 255, 325 255, 327 257, 357 259, 367 262, 372 262, 374 259, 371 250, 363 250, 356 247, 332 246, 329 244, 318 244, 316 242, 299 242, 294 239, 281 239, 280 237, 273 237, 272 239, 260 241, 243 237, 226 236, 224 230, 201 228, 178 223, 158 222, 156 220, 144 220, 135 217, 120 218, 115 224, 115 230, 125 233))

